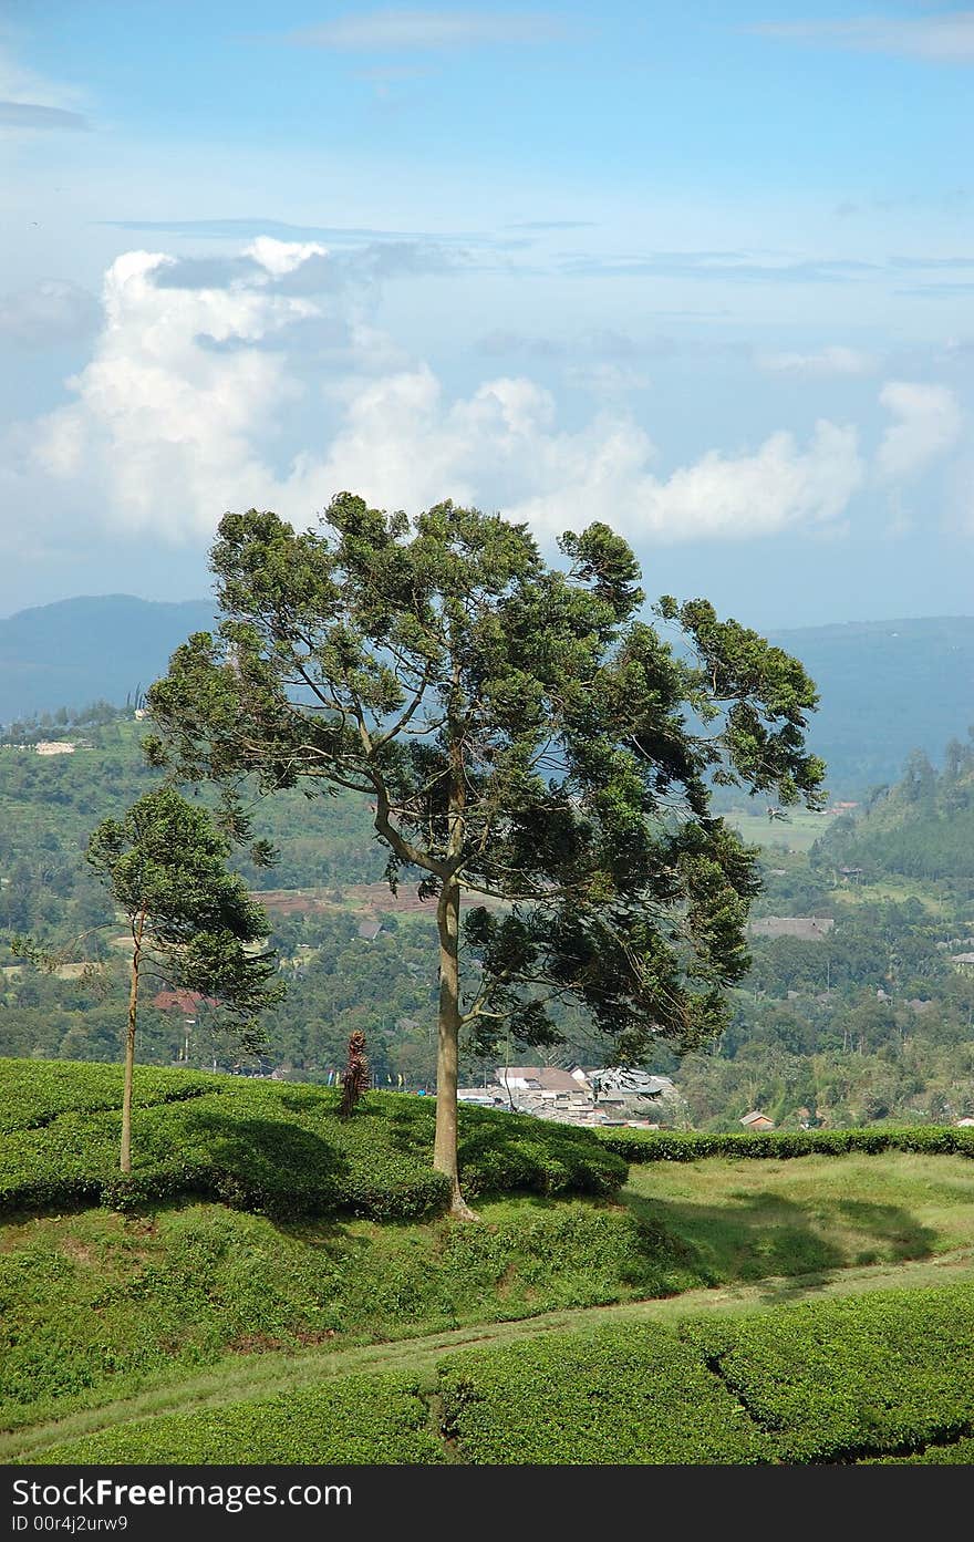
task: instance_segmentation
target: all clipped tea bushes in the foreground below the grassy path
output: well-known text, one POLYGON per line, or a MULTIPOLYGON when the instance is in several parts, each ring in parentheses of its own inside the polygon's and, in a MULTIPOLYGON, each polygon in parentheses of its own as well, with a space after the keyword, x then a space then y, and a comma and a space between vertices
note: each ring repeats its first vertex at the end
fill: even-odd
MULTIPOLYGON (((450 1355, 425 1392, 442 1449, 476 1465, 940 1462, 974 1446, 972 1363, 974 1286, 949 1286, 542 1334, 450 1355)), ((350 1402, 351 1385, 108 1429, 35 1460, 435 1459, 416 1383, 390 1392, 388 1417, 415 1420, 399 1456, 399 1434, 378 1423, 378 1382, 354 1379, 350 1402)))

